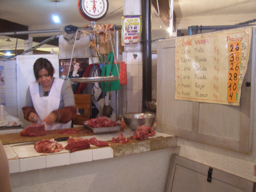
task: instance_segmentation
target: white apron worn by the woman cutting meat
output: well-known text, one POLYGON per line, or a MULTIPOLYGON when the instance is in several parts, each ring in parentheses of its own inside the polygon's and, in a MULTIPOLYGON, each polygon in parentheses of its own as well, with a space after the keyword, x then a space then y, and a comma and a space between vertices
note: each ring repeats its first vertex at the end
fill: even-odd
MULTIPOLYGON (((37 123, 42 123, 42 120, 45 119, 52 111, 58 110, 60 106, 61 99, 61 87, 63 84, 63 79, 54 78, 54 82, 51 88, 51 91, 47 97, 39 96, 39 83, 33 82, 29 86, 31 98, 33 101, 34 109, 37 113, 37 123)), ((53 125, 46 125, 46 130, 53 129, 65 129, 71 127, 71 121, 66 124, 63 123, 54 123, 53 125)))

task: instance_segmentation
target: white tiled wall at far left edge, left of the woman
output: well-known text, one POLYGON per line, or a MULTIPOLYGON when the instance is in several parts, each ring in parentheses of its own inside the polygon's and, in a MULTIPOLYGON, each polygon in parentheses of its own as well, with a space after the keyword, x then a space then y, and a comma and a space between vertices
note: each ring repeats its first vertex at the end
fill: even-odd
POLYGON ((4 66, 5 97, 4 110, 17 117, 17 74, 16 60, 0 60, 0 66, 4 66))

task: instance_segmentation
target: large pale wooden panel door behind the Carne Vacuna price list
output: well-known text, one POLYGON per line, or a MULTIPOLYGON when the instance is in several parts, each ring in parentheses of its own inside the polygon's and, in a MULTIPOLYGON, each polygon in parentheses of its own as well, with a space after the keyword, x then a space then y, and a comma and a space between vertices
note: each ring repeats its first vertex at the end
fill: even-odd
POLYGON ((256 35, 253 29, 240 106, 175 99, 175 39, 162 40, 157 59, 157 130, 186 139, 249 153, 251 148, 256 35), (246 86, 246 82, 250 86, 246 86))

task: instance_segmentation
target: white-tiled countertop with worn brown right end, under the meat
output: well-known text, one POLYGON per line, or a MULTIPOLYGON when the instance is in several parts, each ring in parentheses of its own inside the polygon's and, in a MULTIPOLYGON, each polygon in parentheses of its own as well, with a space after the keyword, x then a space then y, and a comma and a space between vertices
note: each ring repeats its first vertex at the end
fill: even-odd
MULTIPOLYGON (((109 141, 110 146, 97 147, 91 145, 88 149, 76 152, 69 152, 63 149, 61 152, 56 153, 39 153, 34 150, 34 145, 15 146, 17 144, 4 145, 4 148, 9 161, 10 173, 16 173, 109 159, 177 146, 175 136, 161 132, 156 132, 154 137, 143 140, 129 139, 130 142, 126 144, 111 143, 112 138, 116 138, 118 134, 119 133, 95 135, 95 138, 98 140, 109 141)), ((122 134, 129 138, 133 135, 133 131, 126 129, 122 134)), ((82 138, 90 139, 93 137, 94 136, 85 136, 82 138)), ((63 147, 67 145, 67 141, 61 141, 59 143, 61 143, 63 147)))

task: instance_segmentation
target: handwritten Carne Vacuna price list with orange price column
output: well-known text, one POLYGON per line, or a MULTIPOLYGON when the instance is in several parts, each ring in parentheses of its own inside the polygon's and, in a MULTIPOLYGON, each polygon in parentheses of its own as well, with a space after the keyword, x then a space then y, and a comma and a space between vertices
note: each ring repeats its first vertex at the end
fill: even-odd
POLYGON ((175 99, 239 106, 251 28, 177 38, 175 99))

